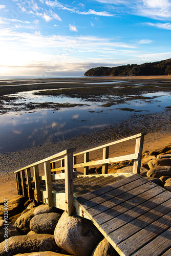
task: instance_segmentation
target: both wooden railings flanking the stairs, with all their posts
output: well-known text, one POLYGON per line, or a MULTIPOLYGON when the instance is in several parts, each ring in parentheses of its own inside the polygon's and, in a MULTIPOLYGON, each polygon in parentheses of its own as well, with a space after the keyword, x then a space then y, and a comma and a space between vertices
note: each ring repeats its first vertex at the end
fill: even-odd
POLYGON ((102 146, 91 148, 90 150, 83 151, 73 155, 75 148, 70 150, 62 151, 56 155, 28 165, 22 169, 16 170, 16 183, 18 195, 23 195, 25 197, 35 198, 37 202, 43 201, 48 204, 49 207, 53 206, 52 197, 52 180, 65 179, 65 200, 66 200, 66 211, 70 216, 74 210, 74 187, 73 179, 77 177, 76 169, 83 167, 84 175, 88 175, 89 166, 102 164, 102 174, 108 173, 108 164, 113 162, 120 162, 125 160, 134 160, 133 173, 140 173, 141 158, 143 150, 144 135, 146 133, 140 133, 128 138, 124 138, 118 141, 114 141, 102 146), (119 156, 109 158, 110 146, 128 141, 131 139, 136 139, 135 153, 131 155, 119 156), (102 149, 102 159, 96 161, 89 161, 89 153, 92 151, 102 149), (84 162, 77 163, 77 157, 83 155, 84 162), (56 163, 60 163, 61 167, 55 168, 56 163), (44 164, 45 175, 39 175, 39 164, 44 164), (31 169, 33 168, 34 177, 31 177, 31 169), (56 172, 61 171, 62 173, 56 174, 56 172), (64 173, 63 173, 64 172, 64 173), (40 181, 45 180, 46 183, 46 197, 41 195, 40 191, 40 181), (35 189, 33 194, 32 181, 34 181, 35 189))

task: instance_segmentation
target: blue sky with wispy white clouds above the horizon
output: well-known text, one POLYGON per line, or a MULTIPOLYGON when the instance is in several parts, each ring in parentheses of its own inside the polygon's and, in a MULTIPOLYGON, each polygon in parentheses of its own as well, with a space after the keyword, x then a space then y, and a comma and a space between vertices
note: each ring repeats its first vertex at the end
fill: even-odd
POLYGON ((0 76, 171 58, 171 0, 0 0, 0 76))

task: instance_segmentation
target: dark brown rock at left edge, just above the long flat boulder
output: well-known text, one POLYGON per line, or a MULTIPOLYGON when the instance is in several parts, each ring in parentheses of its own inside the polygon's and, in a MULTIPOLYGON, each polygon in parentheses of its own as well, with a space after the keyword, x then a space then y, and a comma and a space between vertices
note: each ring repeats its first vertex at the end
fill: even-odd
POLYGON ((4 220, 0 220, 0 243, 13 236, 20 236, 16 227, 11 222, 5 223, 4 220))

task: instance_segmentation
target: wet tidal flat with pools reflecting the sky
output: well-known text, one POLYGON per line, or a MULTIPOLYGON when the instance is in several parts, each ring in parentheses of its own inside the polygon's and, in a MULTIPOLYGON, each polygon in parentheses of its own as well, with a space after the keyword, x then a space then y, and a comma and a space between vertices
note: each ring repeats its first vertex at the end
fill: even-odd
POLYGON ((117 127, 122 137, 126 131, 160 132, 162 118, 154 127, 152 116, 154 123, 156 115, 168 117, 170 106, 169 76, 1 79, 0 152, 61 142, 109 127, 117 127))

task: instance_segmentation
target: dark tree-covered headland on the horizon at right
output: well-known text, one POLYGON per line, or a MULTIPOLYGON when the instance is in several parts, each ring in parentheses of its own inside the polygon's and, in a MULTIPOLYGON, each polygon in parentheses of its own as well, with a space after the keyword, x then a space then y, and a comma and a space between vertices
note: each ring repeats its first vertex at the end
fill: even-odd
POLYGON ((162 76, 171 75, 171 59, 146 62, 141 65, 128 64, 114 68, 98 67, 89 69, 84 76, 162 76))

